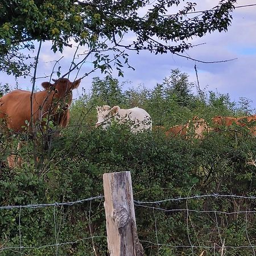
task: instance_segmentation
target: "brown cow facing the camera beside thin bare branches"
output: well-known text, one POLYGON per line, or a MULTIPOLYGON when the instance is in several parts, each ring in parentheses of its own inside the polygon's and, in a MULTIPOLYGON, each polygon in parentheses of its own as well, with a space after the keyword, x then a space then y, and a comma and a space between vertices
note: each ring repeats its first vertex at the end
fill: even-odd
MULTIPOLYGON (((72 101, 72 90, 77 88, 81 79, 74 82, 68 79, 43 82, 45 90, 32 94, 32 122, 41 123, 50 117, 57 126, 66 127, 69 121, 69 106, 72 101)), ((10 130, 20 133, 31 121, 31 92, 13 90, 0 98, 0 118, 4 119, 10 130)), ((19 144, 20 147, 20 144, 19 144)), ((9 156, 9 166, 13 167, 13 157, 9 156)))

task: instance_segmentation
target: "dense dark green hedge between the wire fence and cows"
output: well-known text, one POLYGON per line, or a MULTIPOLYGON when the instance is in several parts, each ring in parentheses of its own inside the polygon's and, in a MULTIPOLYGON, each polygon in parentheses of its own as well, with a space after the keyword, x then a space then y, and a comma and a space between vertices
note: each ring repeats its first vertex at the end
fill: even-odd
MULTIPOLYGON (((134 199, 139 201, 184 197, 189 191, 191 195, 255 195, 255 167, 246 166, 247 154, 255 154, 255 146, 255 140, 251 140, 247 135, 242 135, 236 141, 229 133, 212 134, 202 142, 193 142, 181 138, 167 139, 159 133, 138 136, 119 127, 111 127, 108 131, 86 128, 78 130, 77 127, 73 127, 53 142, 51 160, 44 165, 39 177, 32 166, 23 165, 22 170, 15 168, 11 172, 8 168, 2 169, 1 204, 54 203, 101 195, 102 174, 118 171, 131 171, 134 199), (234 184, 240 185, 234 187, 234 184)), ((153 206, 166 209, 186 208, 184 201, 153 206)), ((255 204, 246 200, 205 199, 190 200, 188 208, 249 211, 255 208, 255 204)), ((201 241, 202 250, 204 246, 212 246, 212 243, 207 241, 220 244, 218 233, 214 233, 217 225, 214 213, 210 214, 210 218, 206 213, 191 213, 188 219, 186 214, 179 211, 166 213, 136 207, 135 212, 139 238, 143 241, 157 242, 156 224, 158 241, 163 245, 189 246, 187 232, 193 245, 201 241), (206 232, 207 230, 211 231, 206 232)), ((232 215, 228 220, 225 214, 217 214, 217 217, 219 232, 222 239, 225 238, 226 245, 247 245, 245 232, 250 233, 251 243, 255 243, 254 225, 249 221, 245 229, 245 217, 242 214, 237 218, 232 215), (237 230, 240 229, 238 236, 237 230)), ((253 216, 250 218, 251 221, 254 220, 253 216)), ((104 207, 99 200, 94 200, 91 204, 70 207, 22 209, 22 245, 39 247, 55 244, 56 222, 59 242, 72 242, 91 235, 104 236, 94 241, 97 253, 104 255, 104 219, 104 207), (89 216, 90 220, 87 219, 89 216)), ((1 230, 5 230, 1 236, 1 241, 5 241, 4 246, 19 245, 19 210, 1 210, 0 220, 1 230)), ((143 242, 143 246, 146 255, 150 255, 150 251, 151 255, 156 254, 159 250, 157 245, 148 248, 147 242, 143 242)), ((163 246, 160 252, 164 255, 167 249, 168 246, 163 246)), ((53 246, 34 250, 24 249, 23 252, 32 255, 52 255, 55 250, 53 246)), ((68 251, 71 250, 73 255, 88 255, 93 249, 92 242, 85 240, 72 246, 60 246, 58 250, 61 255, 69 255, 68 251)), ((191 255, 189 249, 172 249, 174 255, 179 255, 181 251, 191 255)), ((6 254, 3 255, 15 254, 6 250, 6 254)), ((241 250, 240 255, 251 255, 251 251, 246 253, 241 250)))

